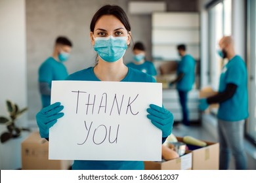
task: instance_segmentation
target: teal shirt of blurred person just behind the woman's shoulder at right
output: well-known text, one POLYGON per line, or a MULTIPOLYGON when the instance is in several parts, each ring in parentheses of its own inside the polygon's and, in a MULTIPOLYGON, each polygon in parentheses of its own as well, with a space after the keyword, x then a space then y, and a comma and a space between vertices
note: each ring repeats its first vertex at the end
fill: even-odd
POLYGON ((147 73, 148 75, 156 76, 156 68, 154 64, 150 61, 144 61, 144 63, 137 65, 133 62, 127 63, 127 67, 131 67, 133 69, 137 69, 142 71, 143 73, 147 73))

